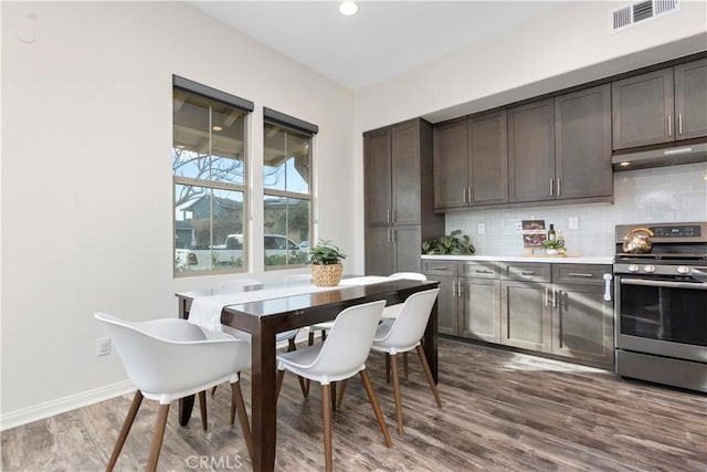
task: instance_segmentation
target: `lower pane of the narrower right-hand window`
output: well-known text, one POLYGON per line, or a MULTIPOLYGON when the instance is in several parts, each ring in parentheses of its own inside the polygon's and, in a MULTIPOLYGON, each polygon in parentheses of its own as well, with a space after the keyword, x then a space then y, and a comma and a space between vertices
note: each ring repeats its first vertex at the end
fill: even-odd
POLYGON ((264 196, 265 265, 302 265, 308 259, 309 200, 264 196))

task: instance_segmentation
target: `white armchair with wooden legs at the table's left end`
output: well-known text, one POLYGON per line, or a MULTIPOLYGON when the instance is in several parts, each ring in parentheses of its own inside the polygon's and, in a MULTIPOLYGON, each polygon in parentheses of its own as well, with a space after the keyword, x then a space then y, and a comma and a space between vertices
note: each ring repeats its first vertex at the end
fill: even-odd
POLYGON ((207 429, 205 390, 224 381, 231 384, 231 426, 238 410, 245 445, 252 457, 251 427, 239 382, 239 373, 251 368, 247 343, 223 333, 203 331, 181 318, 128 322, 105 313, 94 316, 106 327, 128 378, 137 387, 108 460, 107 471, 115 468, 143 398, 159 401, 147 461, 147 470, 155 471, 167 427, 169 403, 198 394, 201 422, 207 429))

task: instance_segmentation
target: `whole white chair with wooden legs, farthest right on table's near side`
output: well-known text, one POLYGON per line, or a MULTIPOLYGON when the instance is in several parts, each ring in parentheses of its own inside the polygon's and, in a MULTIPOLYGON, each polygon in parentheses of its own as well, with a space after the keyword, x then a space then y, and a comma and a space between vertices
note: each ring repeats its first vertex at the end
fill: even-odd
MULTIPOLYGON (((432 378, 424 348, 420 343, 439 293, 440 289, 432 289, 410 295, 408 300, 405 300, 405 303, 403 303, 397 318, 384 319, 378 326, 373 344, 371 345, 371 350, 384 353, 390 358, 399 434, 402 434, 402 401, 400 395, 400 376, 398 375, 398 354, 416 349, 420 363, 422 363, 422 369, 428 378, 428 384, 430 384, 430 388, 432 389, 432 395, 434 396, 437 407, 442 408, 442 400, 440 399, 437 387, 432 378)), ((345 386, 341 386, 339 395, 342 395, 344 388, 345 386)))

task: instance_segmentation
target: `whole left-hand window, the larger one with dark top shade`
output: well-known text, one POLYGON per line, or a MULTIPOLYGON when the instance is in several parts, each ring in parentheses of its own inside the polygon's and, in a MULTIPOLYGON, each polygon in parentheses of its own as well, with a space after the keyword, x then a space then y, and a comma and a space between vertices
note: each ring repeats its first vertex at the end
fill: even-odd
POLYGON ((175 272, 246 269, 245 118, 253 104, 173 80, 175 272))

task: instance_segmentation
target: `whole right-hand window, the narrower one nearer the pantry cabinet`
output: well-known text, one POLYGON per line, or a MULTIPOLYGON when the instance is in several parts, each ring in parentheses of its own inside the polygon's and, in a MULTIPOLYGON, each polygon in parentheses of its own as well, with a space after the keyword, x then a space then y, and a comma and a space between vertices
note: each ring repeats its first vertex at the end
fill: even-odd
POLYGON ((318 128, 264 108, 265 268, 302 265, 312 239, 312 139, 318 128))

